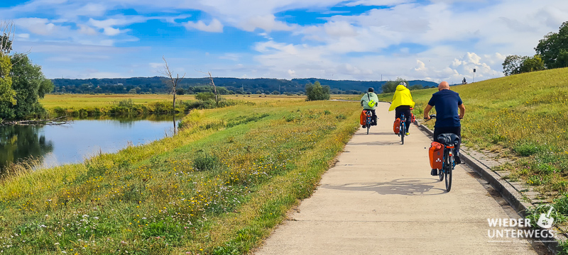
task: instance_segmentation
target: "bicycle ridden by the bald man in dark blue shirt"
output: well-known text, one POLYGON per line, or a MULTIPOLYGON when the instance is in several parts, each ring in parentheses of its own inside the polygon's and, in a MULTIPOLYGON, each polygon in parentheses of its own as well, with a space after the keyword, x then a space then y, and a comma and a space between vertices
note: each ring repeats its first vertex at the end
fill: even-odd
MULTIPOLYGON (((430 119, 436 118, 436 115, 430 115, 430 119)), ((428 121, 428 120, 426 120, 428 121)), ((452 189, 452 172, 456 167, 454 155, 456 154, 456 145, 459 143, 459 137, 454 133, 443 133, 438 135, 438 142, 444 147, 444 156, 442 159, 442 169, 438 171, 439 181, 446 179, 446 191, 452 189)))

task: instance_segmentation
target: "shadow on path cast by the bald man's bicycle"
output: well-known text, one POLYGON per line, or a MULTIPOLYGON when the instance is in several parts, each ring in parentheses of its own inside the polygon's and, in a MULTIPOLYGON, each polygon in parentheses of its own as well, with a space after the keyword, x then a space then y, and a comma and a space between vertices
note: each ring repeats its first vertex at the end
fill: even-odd
POLYGON ((442 188, 434 188, 437 179, 408 178, 395 179, 383 183, 347 183, 344 185, 322 185, 321 188, 330 188, 342 191, 374 191, 381 195, 405 196, 433 196, 446 193, 442 188))

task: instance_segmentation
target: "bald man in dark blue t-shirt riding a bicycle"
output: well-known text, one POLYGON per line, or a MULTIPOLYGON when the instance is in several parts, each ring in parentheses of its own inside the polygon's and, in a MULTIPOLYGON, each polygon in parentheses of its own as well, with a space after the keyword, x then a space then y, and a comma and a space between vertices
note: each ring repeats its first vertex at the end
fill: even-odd
MULTIPOLYGON (((438 135, 443 133, 454 133, 459 137, 461 142, 461 123, 459 120, 464 118, 466 108, 464 103, 457 92, 449 90, 449 84, 442 81, 438 85, 438 92, 432 94, 432 98, 424 109, 424 119, 430 120, 430 110, 436 107, 436 124, 434 125, 434 142, 438 142, 438 135), (459 114, 457 110, 459 109, 459 114)), ((461 164, 459 159, 459 144, 456 146, 456 153, 454 154, 454 162, 461 164)), ((430 173, 433 176, 437 175, 437 169, 432 169, 430 173)))

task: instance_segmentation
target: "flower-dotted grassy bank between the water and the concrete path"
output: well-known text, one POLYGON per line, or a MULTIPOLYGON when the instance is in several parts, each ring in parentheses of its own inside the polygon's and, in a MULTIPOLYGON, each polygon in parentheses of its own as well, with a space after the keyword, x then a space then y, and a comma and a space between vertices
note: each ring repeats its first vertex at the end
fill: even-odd
POLYGON ((245 254, 314 191, 359 105, 192 111, 174 137, 7 177, 5 254, 245 254))

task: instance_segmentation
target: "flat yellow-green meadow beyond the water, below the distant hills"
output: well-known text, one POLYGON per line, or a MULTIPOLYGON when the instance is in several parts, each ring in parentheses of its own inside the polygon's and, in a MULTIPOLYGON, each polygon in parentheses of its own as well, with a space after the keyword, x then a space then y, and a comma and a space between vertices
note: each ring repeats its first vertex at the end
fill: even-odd
MULTIPOLYGON (((350 95, 332 95, 332 98, 349 98, 350 95)), ((305 101, 305 96, 274 95, 222 95, 222 106, 245 103, 245 101, 305 101)), ((146 115, 171 113, 172 96, 165 94, 48 94, 40 103, 50 115, 75 117, 95 115, 146 115)), ((176 111, 183 113, 195 108, 212 108, 213 102, 195 100, 193 95, 176 96, 176 111)))

